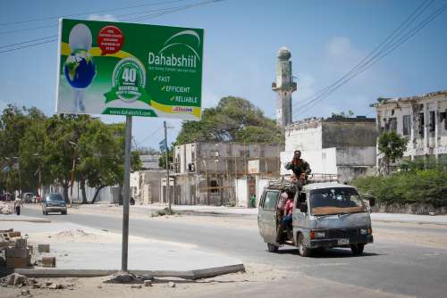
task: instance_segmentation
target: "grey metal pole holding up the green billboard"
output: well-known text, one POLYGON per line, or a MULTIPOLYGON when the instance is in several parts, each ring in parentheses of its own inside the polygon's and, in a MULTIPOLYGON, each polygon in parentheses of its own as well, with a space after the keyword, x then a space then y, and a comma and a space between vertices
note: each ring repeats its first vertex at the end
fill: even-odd
POLYGON ((126 116, 126 144, 124 148, 124 196, 122 198, 122 259, 121 270, 127 272, 129 240, 129 195, 131 190, 132 116, 126 116))

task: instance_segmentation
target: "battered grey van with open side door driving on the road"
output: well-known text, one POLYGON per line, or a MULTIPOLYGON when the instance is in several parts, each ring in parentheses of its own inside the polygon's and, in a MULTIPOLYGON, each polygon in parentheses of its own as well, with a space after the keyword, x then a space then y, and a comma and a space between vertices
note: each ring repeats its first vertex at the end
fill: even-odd
MULTIPOLYGON (((293 188, 293 187, 292 187, 293 188)), ((291 186, 275 184, 264 189, 259 203, 259 233, 269 252, 283 245, 298 247, 301 256, 314 249, 350 247, 355 255, 363 253, 365 244, 373 243, 371 218, 367 205, 354 186, 336 182, 310 183, 294 188, 292 225, 280 228, 280 195, 291 186), (277 236, 277 233, 283 233, 277 236), (281 240, 278 240, 281 239, 281 240)), ((370 206, 374 200, 370 200, 370 206)))

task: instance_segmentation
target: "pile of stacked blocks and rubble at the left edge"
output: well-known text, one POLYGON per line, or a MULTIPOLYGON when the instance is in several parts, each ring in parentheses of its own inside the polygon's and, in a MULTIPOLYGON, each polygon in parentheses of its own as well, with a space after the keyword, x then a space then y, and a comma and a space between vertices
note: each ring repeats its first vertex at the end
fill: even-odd
POLYGON ((43 256, 50 252, 49 244, 38 244, 38 251, 28 244, 27 238, 13 228, 0 230, 0 267, 9 269, 32 268, 41 263, 43 267, 55 267, 55 257, 43 256))

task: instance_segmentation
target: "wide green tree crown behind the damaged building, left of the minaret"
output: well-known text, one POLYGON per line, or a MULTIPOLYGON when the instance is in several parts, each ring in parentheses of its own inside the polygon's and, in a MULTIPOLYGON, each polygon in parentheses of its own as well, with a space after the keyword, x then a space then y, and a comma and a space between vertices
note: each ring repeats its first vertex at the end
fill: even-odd
POLYGON ((194 142, 281 143, 283 132, 255 105, 240 97, 223 97, 205 109, 200 121, 184 121, 175 144, 194 142))

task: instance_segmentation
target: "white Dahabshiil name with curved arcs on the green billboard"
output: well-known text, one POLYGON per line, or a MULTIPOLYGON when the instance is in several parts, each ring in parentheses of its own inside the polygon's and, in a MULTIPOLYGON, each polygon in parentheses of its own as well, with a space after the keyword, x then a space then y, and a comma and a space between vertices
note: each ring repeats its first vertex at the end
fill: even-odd
POLYGON ((183 30, 169 37, 157 54, 149 52, 148 63, 149 65, 196 68, 200 61, 200 55, 198 54, 200 44, 200 37, 196 31, 183 30), (192 40, 192 42, 186 43, 186 39, 188 41, 192 40), (179 50, 173 51, 174 48, 179 50), (168 51, 169 49, 172 51, 168 51), (165 54, 165 52, 177 53, 165 54), (181 54, 178 54, 178 52, 181 52, 181 54))

